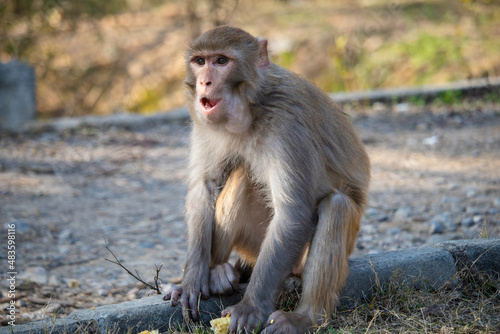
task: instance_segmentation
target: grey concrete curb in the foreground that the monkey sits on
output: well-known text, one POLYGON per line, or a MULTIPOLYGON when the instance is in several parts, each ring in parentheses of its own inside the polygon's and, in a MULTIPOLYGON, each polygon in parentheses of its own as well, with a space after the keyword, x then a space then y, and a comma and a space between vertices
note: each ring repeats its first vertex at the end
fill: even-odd
MULTIPOLYGON (((458 279, 457 272, 468 269, 500 276, 500 238, 461 240, 434 246, 364 255, 350 259, 350 273, 342 302, 364 300, 375 293, 377 285, 387 287, 391 280, 411 283, 419 288, 438 289, 458 279), (396 275, 395 275, 396 274, 396 275)), ((220 311, 237 303, 243 295, 213 297, 200 302, 202 322, 220 316, 220 311)), ((0 328, 0 333, 138 333, 146 329, 166 331, 179 328, 183 319, 179 307, 171 307, 161 296, 122 304, 82 310, 56 321, 44 320, 15 327, 0 328)))

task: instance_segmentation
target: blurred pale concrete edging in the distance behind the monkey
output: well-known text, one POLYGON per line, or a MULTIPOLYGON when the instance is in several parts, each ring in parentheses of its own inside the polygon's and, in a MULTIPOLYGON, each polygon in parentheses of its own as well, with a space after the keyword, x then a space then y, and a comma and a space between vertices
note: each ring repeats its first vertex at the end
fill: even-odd
MULTIPOLYGON (((356 92, 339 92, 329 94, 337 103, 353 102, 387 102, 398 99, 405 99, 410 96, 420 96, 428 99, 439 96, 448 91, 459 91, 464 95, 483 96, 488 93, 496 93, 500 96, 500 77, 486 79, 472 79, 457 81, 447 84, 426 85, 422 87, 403 87, 375 89, 356 92)), ((168 122, 187 122, 189 111, 187 108, 178 108, 168 112, 159 112, 153 115, 141 115, 136 113, 123 112, 107 116, 83 116, 83 117, 61 117, 48 121, 35 121, 25 124, 17 132, 44 132, 56 131, 64 132, 78 129, 80 127, 125 127, 136 129, 151 124, 168 122)))

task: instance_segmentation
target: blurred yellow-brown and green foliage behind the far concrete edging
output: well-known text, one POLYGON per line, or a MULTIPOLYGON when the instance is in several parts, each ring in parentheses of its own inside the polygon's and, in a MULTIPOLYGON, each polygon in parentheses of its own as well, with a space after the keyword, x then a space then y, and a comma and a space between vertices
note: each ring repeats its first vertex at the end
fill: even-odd
POLYGON ((500 0, 0 0, 0 60, 35 67, 41 117, 168 110, 225 23, 325 91, 500 76, 500 0))

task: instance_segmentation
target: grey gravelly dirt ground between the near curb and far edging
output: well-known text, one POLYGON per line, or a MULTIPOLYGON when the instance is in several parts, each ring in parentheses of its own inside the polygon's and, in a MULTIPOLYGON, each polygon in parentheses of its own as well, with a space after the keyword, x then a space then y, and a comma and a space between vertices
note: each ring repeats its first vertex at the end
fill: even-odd
MULTIPOLYGON (((353 256, 500 236, 500 105, 394 109, 346 109, 372 162, 353 256)), ((144 280, 162 264, 164 289, 182 274, 188 134, 173 122, 0 135, 0 324, 12 224, 17 324, 151 293, 106 245, 144 280)))

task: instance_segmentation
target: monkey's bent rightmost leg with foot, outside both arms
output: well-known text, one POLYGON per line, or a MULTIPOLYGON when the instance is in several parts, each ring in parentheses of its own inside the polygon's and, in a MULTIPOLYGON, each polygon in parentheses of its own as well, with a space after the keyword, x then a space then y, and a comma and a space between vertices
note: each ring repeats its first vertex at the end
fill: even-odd
POLYGON ((294 312, 276 311, 266 333, 304 333, 331 315, 349 271, 362 209, 336 192, 318 206, 318 225, 303 273, 302 299, 294 312))

